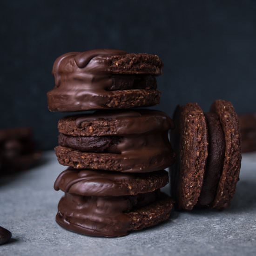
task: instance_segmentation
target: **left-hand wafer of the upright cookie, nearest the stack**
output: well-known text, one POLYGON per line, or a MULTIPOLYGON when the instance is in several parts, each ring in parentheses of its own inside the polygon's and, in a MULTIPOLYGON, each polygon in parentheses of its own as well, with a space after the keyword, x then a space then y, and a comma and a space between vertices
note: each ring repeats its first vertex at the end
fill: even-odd
POLYGON ((201 193, 208 156, 205 116, 196 103, 177 110, 176 135, 179 137, 179 159, 172 175, 172 191, 179 209, 191 210, 201 193), (175 190, 175 191, 174 191, 175 190))

